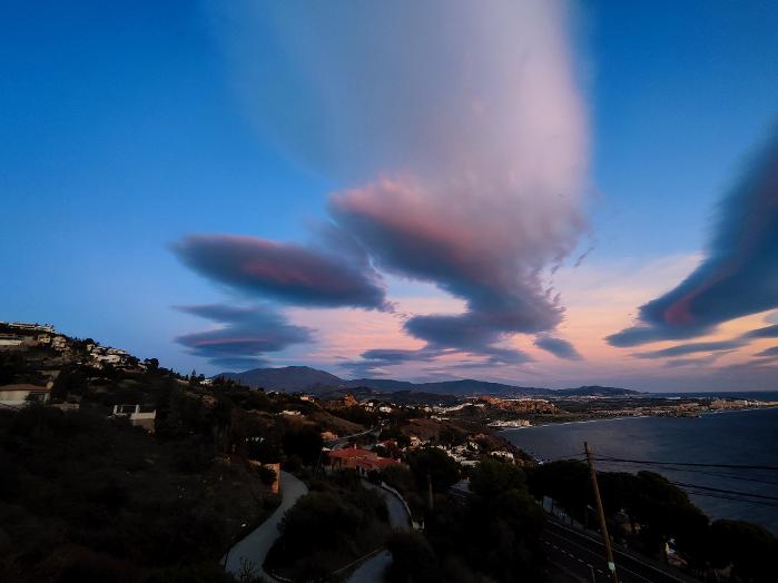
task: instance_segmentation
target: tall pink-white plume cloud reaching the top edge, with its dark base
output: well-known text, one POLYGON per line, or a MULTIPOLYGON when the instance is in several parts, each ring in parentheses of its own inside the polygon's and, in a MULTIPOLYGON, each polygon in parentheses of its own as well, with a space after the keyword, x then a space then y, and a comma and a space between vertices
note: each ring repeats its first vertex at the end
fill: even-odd
MULTIPOLYGON (((588 128, 567 4, 220 10, 217 28, 263 136, 344 185, 329 198, 332 226, 370 257, 348 273, 376 268, 464 299, 462 314, 405 323, 427 343, 420 358, 455 349, 529 360, 504 342, 560 324, 546 276, 585 229, 588 128), (267 57, 279 52, 284 67, 267 57)), ((273 293, 299 296, 277 278, 273 293)), ((381 300, 370 297, 352 305, 381 300)))

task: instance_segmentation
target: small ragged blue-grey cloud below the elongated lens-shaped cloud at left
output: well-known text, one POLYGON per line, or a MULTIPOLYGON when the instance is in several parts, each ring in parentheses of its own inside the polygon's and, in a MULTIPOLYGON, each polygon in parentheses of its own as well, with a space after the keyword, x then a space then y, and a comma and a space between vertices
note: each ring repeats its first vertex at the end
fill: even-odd
POLYGON ((265 355, 292 345, 312 342, 312 330, 289 324, 267 306, 234 307, 221 304, 180 306, 177 309, 219 324, 178 336, 176 342, 194 356, 230 367, 265 364, 265 355))

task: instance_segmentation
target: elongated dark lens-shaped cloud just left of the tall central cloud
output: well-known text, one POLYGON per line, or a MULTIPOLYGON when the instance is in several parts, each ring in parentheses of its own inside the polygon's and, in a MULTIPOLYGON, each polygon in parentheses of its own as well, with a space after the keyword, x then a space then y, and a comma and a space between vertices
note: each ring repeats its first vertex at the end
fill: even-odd
POLYGON ((344 245, 331 250, 257 237, 193 235, 174 246, 200 275, 242 293, 299 306, 387 309, 380 276, 344 245))

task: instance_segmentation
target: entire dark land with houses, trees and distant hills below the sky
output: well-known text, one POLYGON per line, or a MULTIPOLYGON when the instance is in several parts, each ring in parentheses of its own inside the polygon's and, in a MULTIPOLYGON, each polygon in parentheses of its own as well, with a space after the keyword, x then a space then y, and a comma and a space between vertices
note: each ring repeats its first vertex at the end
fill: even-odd
MULTIPOLYGON (((431 570, 423 581, 530 574, 562 583, 589 564, 597 581, 607 577, 594 559, 602 556, 594 520, 581 505, 591 495, 585 464, 534 460, 502 429, 575 415, 570 403, 602 407, 608 398, 266 392, 223 376, 180 375, 49 325, 0 330, 0 455, 10 470, 3 475, 14 476, 0 486, 16 501, 0 505, 0 535, 18 542, 0 547, 0 565, 12 580, 65 581, 87 570, 127 581, 194 573, 198 581, 416 581, 420 553, 431 570), (41 496, 52 495, 53 512, 41 514, 41 496), (87 514, 93 520, 85 523, 87 514), (31 524, 41 530, 19 537, 31 524), (181 528, 188 534, 163 551, 149 528, 165 540, 181 528), (45 533, 58 534, 41 554, 51 536, 45 533), (484 562, 495 547, 513 551, 484 562)), ((730 406, 755 404, 650 402, 630 411, 730 406)), ((759 556, 768 556, 764 544, 775 544, 755 525, 710 522, 658 474, 599 472, 599 480, 608 496, 621 492, 619 505, 607 498, 619 562, 642 573, 622 574, 624 581, 746 569, 740 555, 700 555, 693 537, 720 540, 719 549, 751 536, 759 556)))

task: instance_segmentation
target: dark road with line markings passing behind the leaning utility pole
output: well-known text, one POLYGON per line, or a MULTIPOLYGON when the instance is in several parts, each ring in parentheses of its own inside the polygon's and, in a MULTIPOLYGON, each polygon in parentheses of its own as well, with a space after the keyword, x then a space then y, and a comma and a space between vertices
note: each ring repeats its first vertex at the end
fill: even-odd
MULTIPOLYGON (((549 520, 542 536, 549 562, 581 581, 610 583, 604 545, 588 535, 549 520)), ((613 550, 619 581, 623 583, 689 583, 695 580, 669 573, 647 560, 613 550)))

